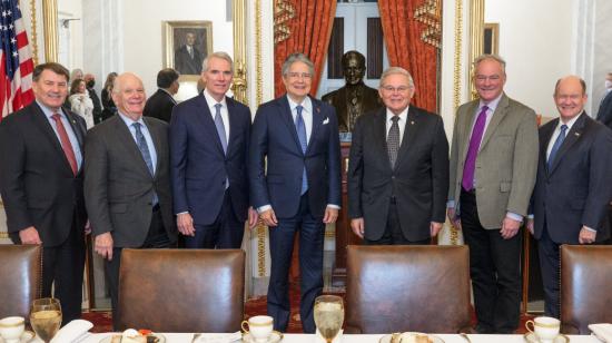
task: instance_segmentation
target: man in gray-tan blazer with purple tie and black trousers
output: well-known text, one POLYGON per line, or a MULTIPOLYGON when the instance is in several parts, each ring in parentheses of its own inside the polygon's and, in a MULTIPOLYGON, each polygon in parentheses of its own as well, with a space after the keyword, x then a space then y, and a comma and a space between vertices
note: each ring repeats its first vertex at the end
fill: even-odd
POLYGON ((537 168, 535 112, 504 94, 505 61, 474 61, 480 99, 457 109, 447 215, 470 246, 478 333, 513 333, 521 305, 521 235, 537 168))

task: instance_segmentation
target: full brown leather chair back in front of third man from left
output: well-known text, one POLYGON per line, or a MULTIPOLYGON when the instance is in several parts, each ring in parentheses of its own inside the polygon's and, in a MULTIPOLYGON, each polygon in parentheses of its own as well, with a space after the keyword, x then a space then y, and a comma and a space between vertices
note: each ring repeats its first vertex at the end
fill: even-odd
POLYGON ((124 249, 119 271, 119 330, 240 330, 245 294, 240 249, 124 249))

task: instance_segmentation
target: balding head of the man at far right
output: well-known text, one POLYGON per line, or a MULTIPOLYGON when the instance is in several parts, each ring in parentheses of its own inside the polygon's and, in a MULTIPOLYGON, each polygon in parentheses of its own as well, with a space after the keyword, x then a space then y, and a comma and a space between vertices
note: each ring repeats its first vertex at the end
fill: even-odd
POLYGON ((586 104, 584 80, 575 75, 559 79, 554 88, 554 102, 563 122, 582 114, 586 104))

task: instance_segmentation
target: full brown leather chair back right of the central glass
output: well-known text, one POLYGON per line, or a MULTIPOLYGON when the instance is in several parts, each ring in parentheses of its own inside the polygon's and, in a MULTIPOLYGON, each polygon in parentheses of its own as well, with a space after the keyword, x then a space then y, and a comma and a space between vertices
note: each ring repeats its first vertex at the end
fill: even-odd
POLYGON ((348 246, 346 332, 470 331, 467 246, 348 246))

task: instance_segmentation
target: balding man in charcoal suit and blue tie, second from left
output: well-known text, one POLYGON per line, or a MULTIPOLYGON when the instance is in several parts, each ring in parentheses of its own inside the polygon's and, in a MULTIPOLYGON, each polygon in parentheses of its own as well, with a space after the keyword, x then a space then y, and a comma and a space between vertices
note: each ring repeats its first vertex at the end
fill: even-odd
POLYGON ((95 249, 106 259, 115 329, 121 249, 169 247, 177 238, 168 125, 142 118, 145 99, 136 75, 118 76, 112 88, 118 115, 90 129, 85 146, 86 205, 95 249))

